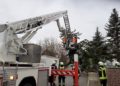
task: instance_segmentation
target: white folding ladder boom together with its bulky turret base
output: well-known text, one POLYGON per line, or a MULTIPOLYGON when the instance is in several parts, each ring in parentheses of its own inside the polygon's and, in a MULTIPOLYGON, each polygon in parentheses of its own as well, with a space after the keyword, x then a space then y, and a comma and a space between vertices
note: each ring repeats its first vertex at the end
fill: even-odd
POLYGON ((67 11, 51 13, 48 15, 0 25, 0 40, 2 42, 0 44, 0 58, 13 61, 12 58, 16 57, 16 55, 27 54, 23 44, 27 43, 35 35, 38 29, 52 21, 57 22, 59 31, 64 35, 71 32, 67 11), (62 28, 59 24, 60 22, 58 22, 61 17, 64 19, 65 28, 62 28), (26 34, 23 37, 18 38, 17 34, 21 33, 26 34))

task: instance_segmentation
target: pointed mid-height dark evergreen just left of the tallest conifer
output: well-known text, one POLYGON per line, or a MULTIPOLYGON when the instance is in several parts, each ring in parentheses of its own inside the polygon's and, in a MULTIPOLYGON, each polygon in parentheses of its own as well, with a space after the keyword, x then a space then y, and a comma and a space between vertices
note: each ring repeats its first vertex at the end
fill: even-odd
POLYGON ((104 41, 104 37, 99 32, 98 27, 96 28, 95 35, 91 41, 91 48, 93 49, 94 57, 93 63, 98 64, 99 60, 105 60, 107 57, 107 46, 104 41))

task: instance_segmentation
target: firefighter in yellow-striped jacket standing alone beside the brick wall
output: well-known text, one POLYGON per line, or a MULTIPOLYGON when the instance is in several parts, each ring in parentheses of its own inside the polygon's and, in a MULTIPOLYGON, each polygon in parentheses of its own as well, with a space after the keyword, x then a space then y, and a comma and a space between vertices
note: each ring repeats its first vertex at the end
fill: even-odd
POLYGON ((101 61, 98 64, 99 64, 98 74, 101 86, 107 86, 106 67, 104 66, 104 63, 101 61))

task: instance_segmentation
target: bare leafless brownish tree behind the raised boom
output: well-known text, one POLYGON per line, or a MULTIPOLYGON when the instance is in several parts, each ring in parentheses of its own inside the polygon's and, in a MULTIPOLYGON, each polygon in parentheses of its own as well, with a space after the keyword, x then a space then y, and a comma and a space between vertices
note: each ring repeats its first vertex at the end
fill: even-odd
POLYGON ((62 43, 57 42, 55 39, 46 38, 43 42, 39 42, 39 44, 42 46, 42 55, 58 57, 64 62, 68 60, 62 43))

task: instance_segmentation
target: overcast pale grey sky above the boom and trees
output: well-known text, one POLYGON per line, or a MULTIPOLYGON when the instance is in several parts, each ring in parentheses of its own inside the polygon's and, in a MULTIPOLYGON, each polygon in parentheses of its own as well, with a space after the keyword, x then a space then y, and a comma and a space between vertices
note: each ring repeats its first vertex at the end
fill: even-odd
MULTIPOLYGON (((0 23, 68 10, 71 28, 82 33, 80 40, 91 40, 97 26, 106 34, 104 26, 113 8, 120 14, 119 0, 0 0, 0 23)), ((59 34, 53 22, 39 30, 31 41, 38 43, 46 37, 59 40, 59 34)))

